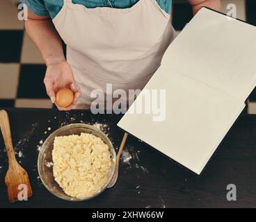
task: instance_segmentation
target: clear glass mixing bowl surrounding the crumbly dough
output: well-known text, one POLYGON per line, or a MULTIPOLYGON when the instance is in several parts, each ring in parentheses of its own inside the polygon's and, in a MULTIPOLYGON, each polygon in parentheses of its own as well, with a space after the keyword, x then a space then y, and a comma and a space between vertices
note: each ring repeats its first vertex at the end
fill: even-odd
POLYGON ((115 173, 115 165, 116 165, 115 150, 113 148, 111 141, 109 140, 109 137, 107 137, 98 128, 87 125, 87 124, 83 124, 83 123, 75 123, 75 124, 63 126, 62 128, 59 128, 58 130, 56 130, 54 133, 51 133, 51 135, 49 135, 49 137, 45 140, 44 144, 42 144, 42 148, 40 149, 40 152, 38 155, 38 173, 39 173, 40 179, 42 180, 43 185, 45 185, 45 187, 51 192, 51 194, 54 194, 55 196, 63 200, 70 200, 70 201, 89 200, 101 194, 108 187, 109 182, 113 178, 113 174, 115 173), (53 162, 52 150, 54 148, 54 138, 57 136, 80 135, 81 133, 91 133, 96 137, 101 138, 104 141, 104 143, 109 146, 109 152, 111 154, 111 163, 112 163, 111 168, 109 170, 109 178, 106 181, 106 184, 102 187, 102 189, 97 191, 97 193, 94 194, 93 196, 83 198, 83 199, 73 198, 65 194, 63 189, 54 180, 53 167, 51 166, 53 162))

